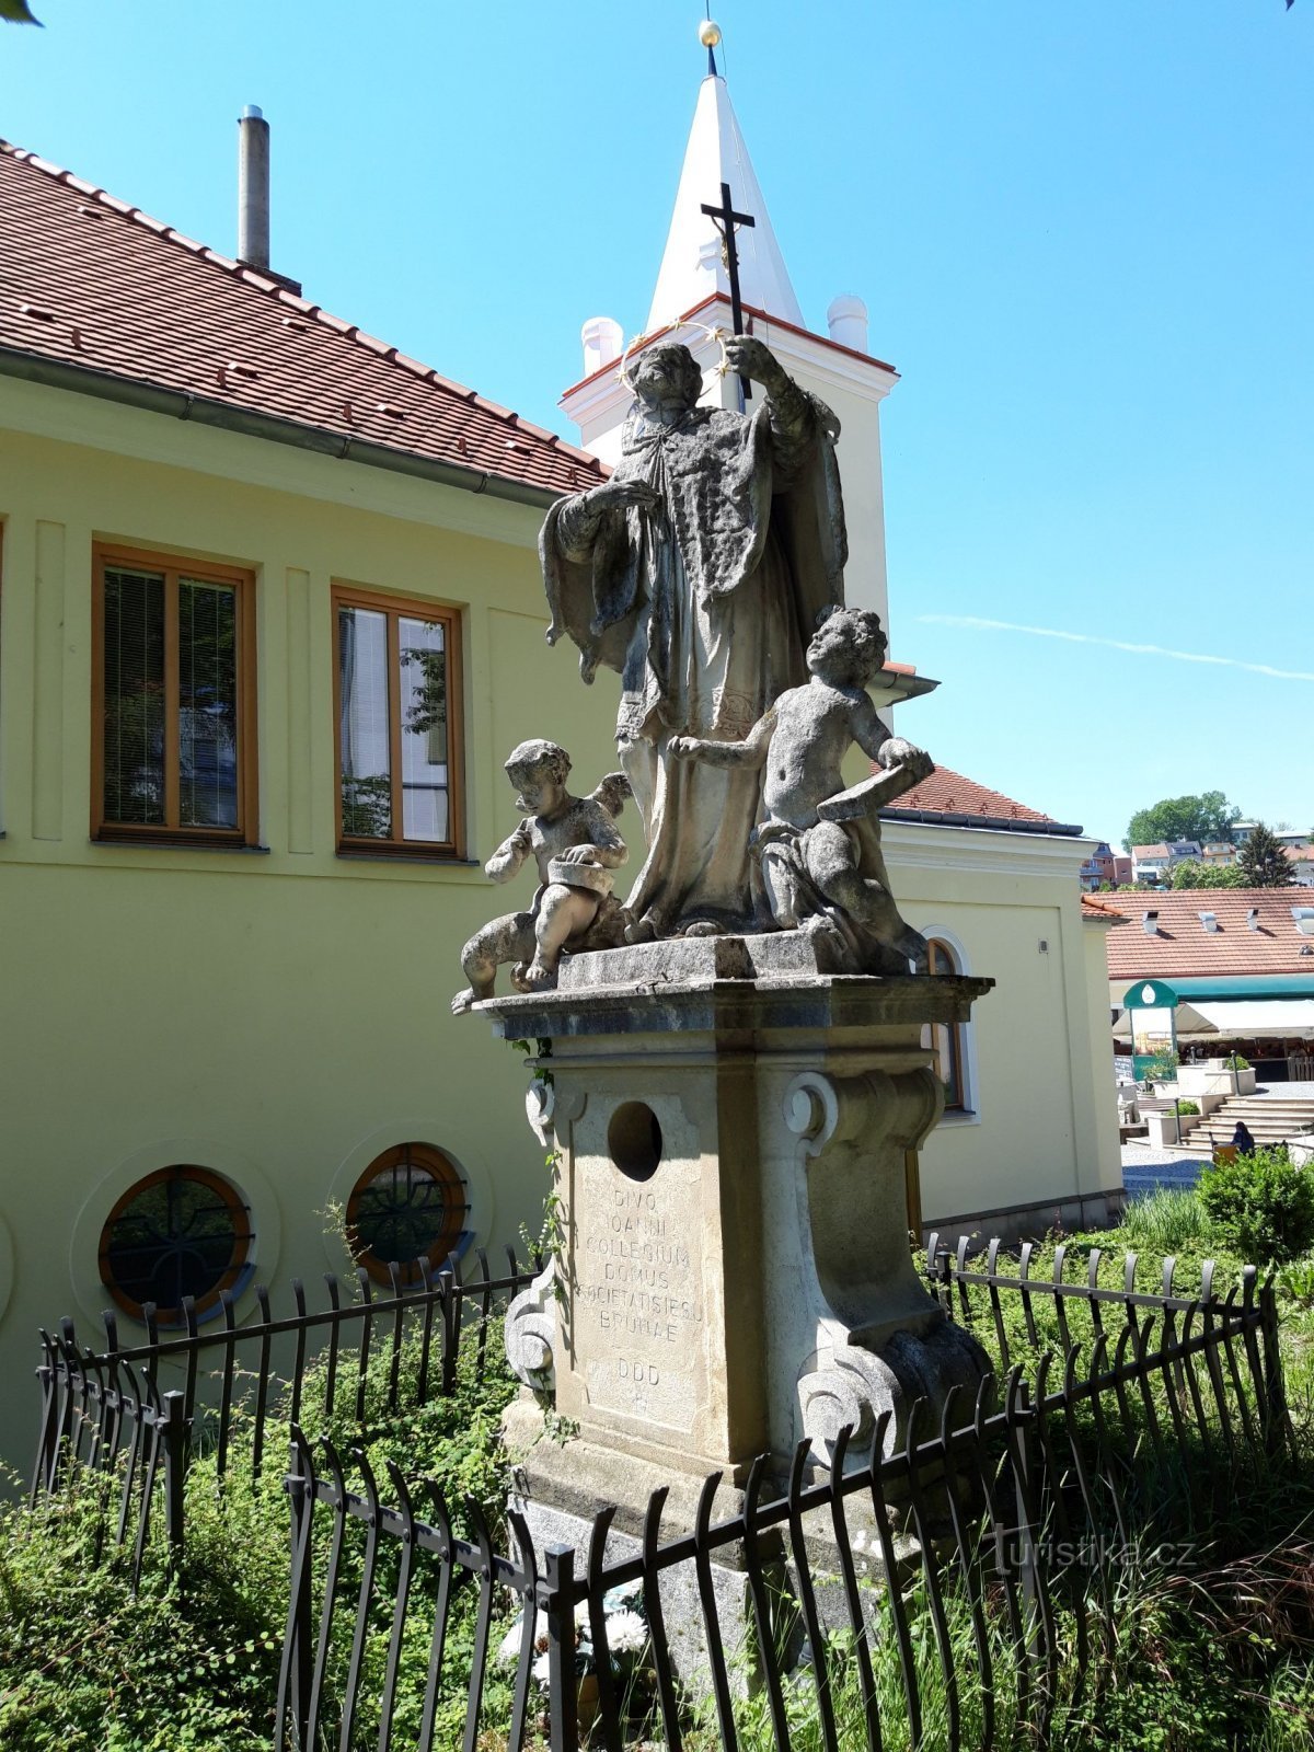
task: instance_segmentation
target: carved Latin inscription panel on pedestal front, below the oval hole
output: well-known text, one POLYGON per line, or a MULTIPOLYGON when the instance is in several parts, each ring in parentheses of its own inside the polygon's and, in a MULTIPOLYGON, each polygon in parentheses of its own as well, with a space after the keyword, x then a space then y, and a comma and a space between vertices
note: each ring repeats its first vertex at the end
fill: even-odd
POLYGON ((632 1181, 583 1172, 575 1253, 575 1353, 589 1403, 692 1430, 703 1365, 697 1181, 664 1162, 632 1181))

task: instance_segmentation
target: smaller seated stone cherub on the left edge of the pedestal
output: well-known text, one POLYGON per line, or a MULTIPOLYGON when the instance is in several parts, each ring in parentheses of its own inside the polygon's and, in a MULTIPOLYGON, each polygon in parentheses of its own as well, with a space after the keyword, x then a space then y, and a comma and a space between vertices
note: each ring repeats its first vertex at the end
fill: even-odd
POLYGON ((538 892, 527 911, 494 918, 461 951, 470 985, 452 999, 452 1013, 492 997, 498 967, 512 962, 517 992, 547 992, 557 983, 562 950, 610 950, 625 941, 625 909, 611 894, 611 871, 629 857, 615 827, 629 780, 608 773, 587 797, 566 788, 571 757, 557 743, 520 743, 506 760, 524 822, 484 865, 492 881, 510 881, 526 858, 538 864, 538 892))

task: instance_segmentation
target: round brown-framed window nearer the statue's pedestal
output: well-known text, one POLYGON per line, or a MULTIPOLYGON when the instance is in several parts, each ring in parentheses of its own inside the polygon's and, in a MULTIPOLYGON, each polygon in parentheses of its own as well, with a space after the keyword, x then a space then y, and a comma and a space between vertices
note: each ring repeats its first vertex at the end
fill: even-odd
POLYGON ((433 1144, 394 1144, 375 1156, 347 1200, 352 1256, 380 1284, 420 1281, 419 1260, 447 1263, 470 1200, 459 1169, 433 1144))

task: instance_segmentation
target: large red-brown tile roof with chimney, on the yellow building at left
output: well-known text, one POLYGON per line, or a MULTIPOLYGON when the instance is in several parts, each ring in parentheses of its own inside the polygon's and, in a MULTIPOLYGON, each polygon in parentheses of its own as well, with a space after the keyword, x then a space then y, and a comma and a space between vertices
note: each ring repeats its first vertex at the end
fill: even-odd
POLYGON ((0 140, 0 350, 576 492, 585 450, 0 140))

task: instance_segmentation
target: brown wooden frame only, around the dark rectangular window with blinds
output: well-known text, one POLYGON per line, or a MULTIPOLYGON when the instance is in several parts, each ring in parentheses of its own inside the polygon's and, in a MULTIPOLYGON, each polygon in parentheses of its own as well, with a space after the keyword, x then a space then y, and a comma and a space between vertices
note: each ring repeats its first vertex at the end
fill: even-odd
POLYGON ((116 844, 258 846, 259 741, 256 687, 256 573, 158 548, 95 541, 91 547, 91 837, 116 844), (130 566, 165 575, 165 820, 105 816, 105 569, 130 566), (179 820, 179 578, 230 583, 237 596, 237 827, 186 827, 179 820), (170 759, 172 750, 172 759, 170 759))

